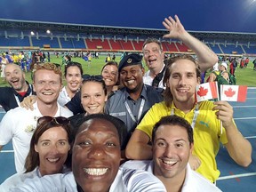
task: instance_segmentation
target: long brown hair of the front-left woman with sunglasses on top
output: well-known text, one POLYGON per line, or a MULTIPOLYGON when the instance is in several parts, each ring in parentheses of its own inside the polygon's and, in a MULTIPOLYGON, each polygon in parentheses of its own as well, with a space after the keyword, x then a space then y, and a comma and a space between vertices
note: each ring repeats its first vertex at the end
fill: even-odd
MULTIPOLYGON (((67 132, 68 143, 71 148, 74 141, 74 138, 71 134, 71 130, 72 130, 71 124, 57 124, 55 121, 52 121, 47 124, 37 124, 36 130, 33 133, 32 138, 30 140, 29 152, 25 161, 26 172, 32 172, 33 170, 36 169, 37 166, 39 166, 40 164, 39 154, 35 150, 35 145, 37 144, 39 138, 43 135, 43 133, 51 129, 52 127, 61 127, 67 132)), ((66 159, 65 165, 67 166, 67 168, 71 168, 71 150, 68 153, 68 157, 66 159)))

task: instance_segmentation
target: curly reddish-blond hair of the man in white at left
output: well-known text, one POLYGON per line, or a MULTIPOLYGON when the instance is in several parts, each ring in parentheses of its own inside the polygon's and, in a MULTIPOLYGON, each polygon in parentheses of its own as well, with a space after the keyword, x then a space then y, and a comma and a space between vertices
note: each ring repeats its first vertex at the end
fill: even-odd
POLYGON ((35 81, 36 71, 41 70, 41 69, 53 71, 55 74, 60 76, 60 83, 62 83, 62 72, 61 72, 60 65, 59 64, 56 65, 56 64, 51 63, 51 62, 36 63, 34 65, 34 68, 33 68, 33 78, 32 78, 33 81, 35 81))

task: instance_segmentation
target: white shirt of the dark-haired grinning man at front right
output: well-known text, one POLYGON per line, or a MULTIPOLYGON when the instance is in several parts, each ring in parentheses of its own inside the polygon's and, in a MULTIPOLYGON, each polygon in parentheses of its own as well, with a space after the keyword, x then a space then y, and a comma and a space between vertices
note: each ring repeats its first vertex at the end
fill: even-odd
MULTIPOLYGON (((142 169, 147 172, 154 173, 153 161, 128 161, 121 165, 121 167, 132 169, 142 169)), ((172 178, 170 178, 172 180, 172 178)), ((186 167, 185 180, 181 189, 181 192, 220 192, 220 188, 217 188, 209 180, 206 180, 201 174, 193 171, 189 164, 186 167)))

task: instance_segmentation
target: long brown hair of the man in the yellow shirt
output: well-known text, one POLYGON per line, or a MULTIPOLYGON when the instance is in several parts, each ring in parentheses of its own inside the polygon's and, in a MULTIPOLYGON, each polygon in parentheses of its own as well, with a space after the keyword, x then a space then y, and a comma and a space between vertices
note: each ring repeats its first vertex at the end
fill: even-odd
MULTIPOLYGON (((175 56, 175 57, 172 57, 172 58, 169 58, 168 60, 166 60, 167 66, 166 66, 166 70, 164 73, 164 79, 163 79, 164 86, 166 86, 167 80, 170 78, 170 76, 172 74, 172 64, 174 62, 176 62, 177 60, 190 60, 193 63, 195 63, 196 77, 201 78, 201 70, 199 68, 199 65, 198 65, 196 59, 194 59, 191 55, 181 54, 181 55, 178 55, 178 56, 175 56)), ((170 91, 170 89, 166 87, 166 89, 163 92, 163 95, 164 95, 165 105, 167 107, 171 107, 173 97, 172 97, 172 92, 170 91)))

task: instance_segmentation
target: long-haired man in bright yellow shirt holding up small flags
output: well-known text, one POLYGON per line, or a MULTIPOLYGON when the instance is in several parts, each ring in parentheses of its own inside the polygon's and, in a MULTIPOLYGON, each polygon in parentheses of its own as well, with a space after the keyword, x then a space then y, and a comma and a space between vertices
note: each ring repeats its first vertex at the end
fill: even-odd
POLYGON ((236 127, 232 106, 221 100, 196 102, 196 85, 200 84, 200 74, 197 61, 189 55, 168 60, 164 74, 164 101, 150 108, 136 127, 125 149, 126 157, 151 159, 152 150, 148 143, 152 140, 154 124, 162 116, 176 115, 186 119, 194 128, 195 143, 189 164, 208 180, 215 182, 220 176, 216 162, 220 143, 237 164, 244 167, 251 164, 252 146, 236 127))

